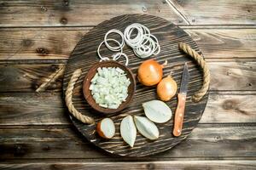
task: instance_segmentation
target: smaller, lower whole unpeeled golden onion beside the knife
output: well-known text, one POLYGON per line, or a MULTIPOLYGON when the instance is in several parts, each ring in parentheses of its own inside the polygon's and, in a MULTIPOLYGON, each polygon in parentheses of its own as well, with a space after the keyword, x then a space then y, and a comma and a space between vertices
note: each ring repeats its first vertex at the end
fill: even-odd
POLYGON ((160 100, 168 101, 176 94, 177 83, 169 75, 160 81, 160 83, 157 85, 156 91, 160 100))

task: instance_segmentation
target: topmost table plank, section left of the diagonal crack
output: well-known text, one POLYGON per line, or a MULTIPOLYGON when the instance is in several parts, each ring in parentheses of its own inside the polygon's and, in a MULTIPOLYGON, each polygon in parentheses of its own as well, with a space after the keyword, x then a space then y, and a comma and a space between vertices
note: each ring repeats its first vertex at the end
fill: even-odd
POLYGON ((166 2, 154 0, 37 0, 0 3, 0 26, 95 26, 120 14, 153 14, 185 24, 166 2))

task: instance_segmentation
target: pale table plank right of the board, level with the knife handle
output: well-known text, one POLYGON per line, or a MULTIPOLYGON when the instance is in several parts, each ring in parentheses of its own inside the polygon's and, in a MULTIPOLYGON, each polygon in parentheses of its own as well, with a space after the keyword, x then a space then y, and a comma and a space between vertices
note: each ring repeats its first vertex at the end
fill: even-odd
POLYGON ((256 122, 255 99, 254 92, 212 93, 200 122, 256 122))

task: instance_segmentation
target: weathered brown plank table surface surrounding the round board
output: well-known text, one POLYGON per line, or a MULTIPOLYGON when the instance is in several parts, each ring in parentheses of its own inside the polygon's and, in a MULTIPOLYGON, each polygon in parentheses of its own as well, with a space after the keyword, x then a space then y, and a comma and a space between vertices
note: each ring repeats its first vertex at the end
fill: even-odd
POLYGON ((256 169, 255 28, 255 0, 1 0, 0 168, 256 169), (76 43, 120 14, 153 14, 180 26, 212 73, 198 127, 155 156, 97 149, 73 126, 62 99, 76 43))

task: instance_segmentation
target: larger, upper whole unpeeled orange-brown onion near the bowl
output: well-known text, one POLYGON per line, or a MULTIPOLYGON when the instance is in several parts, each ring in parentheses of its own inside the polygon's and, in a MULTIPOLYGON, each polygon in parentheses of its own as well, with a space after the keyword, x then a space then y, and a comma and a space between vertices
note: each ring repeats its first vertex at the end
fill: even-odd
POLYGON ((138 68, 137 78, 145 86, 154 86, 163 77, 163 67, 154 59, 148 59, 138 68))

